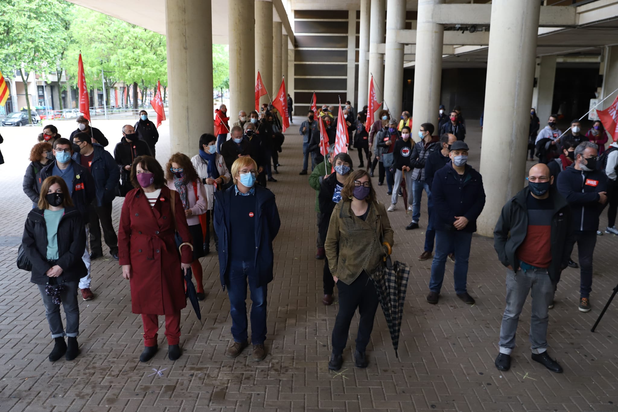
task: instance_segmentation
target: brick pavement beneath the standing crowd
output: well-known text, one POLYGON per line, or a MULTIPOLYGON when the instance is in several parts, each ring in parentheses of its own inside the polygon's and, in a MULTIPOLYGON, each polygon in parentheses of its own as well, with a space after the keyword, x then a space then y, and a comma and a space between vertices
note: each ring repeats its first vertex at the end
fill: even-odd
MULTIPOLYGON (((108 255, 93 264, 95 300, 80 303, 81 355, 72 362, 49 363, 52 345, 40 296, 28 274, 14 264, 30 208, 20 187, 27 165, 23 158, 36 133, 23 137, 23 130, 2 128, 6 140, 2 151, 8 159, 0 166, 0 193, 4 194, 0 204, 0 412, 618 411, 618 300, 598 332, 589 331, 618 281, 613 253, 618 238, 598 239, 590 313, 577 311, 578 271, 567 269, 562 275, 556 307, 550 312, 549 350, 564 374, 553 374, 530 360, 529 303, 520 319, 513 367, 503 373, 493 361, 504 310, 505 272, 493 241, 473 238, 468 287, 477 299, 475 306, 455 298, 450 263, 440 303, 428 305, 431 261, 417 260, 424 241, 425 198, 419 230, 404 230, 410 217, 402 206, 389 214, 395 229, 394 257, 412 266, 400 358, 394 356, 378 309, 368 348, 370 366, 355 368, 348 347, 341 374, 329 372, 329 338, 337 305, 321 304, 322 262, 313 258, 314 192, 307 176, 298 176, 302 154, 295 130, 299 121, 287 133, 281 174, 276 176, 279 182, 269 183, 277 195, 282 226, 274 244, 275 280, 269 285, 269 355, 261 363, 250 360, 249 351, 234 360, 224 355, 231 319, 214 255, 203 258, 208 296, 201 303, 202 324, 189 309, 182 312, 184 355, 178 361, 166 358, 163 334, 163 350, 148 364, 138 361, 142 322, 130 312, 129 283, 121 279, 119 267, 108 255), (165 369, 163 376, 153 375, 153 368, 165 369)), ((117 135, 124 124, 100 123, 108 137, 117 135)), ((61 133, 68 135, 74 124, 62 126, 66 130, 61 133)), ((478 167, 480 133, 471 129, 470 164, 478 167)), ((159 146, 169 140, 165 125, 161 134, 159 146)), ((169 154, 162 147, 158 153, 159 160, 169 154)), ((352 158, 357 158, 355 153, 352 158)), ((378 193, 386 203, 386 186, 378 193)), ((117 200, 116 219, 120 206, 117 200)), ((350 345, 357 322, 350 328, 350 345)))

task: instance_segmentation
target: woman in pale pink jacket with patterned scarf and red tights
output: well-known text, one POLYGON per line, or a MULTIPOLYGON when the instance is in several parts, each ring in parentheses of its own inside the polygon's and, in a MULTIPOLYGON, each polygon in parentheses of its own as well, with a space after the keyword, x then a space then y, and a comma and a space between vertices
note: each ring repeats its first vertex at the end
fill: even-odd
POLYGON ((167 187, 170 190, 176 190, 182 201, 182 208, 193 239, 191 271, 197 284, 197 298, 204 300, 206 294, 200 263, 200 258, 204 257, 204 237, 201 232, 200 216, 208 211, 208 195, 200 177, 195 172, 191 159, 186 154, 172 154, 167 161, 165 178, 167 187))

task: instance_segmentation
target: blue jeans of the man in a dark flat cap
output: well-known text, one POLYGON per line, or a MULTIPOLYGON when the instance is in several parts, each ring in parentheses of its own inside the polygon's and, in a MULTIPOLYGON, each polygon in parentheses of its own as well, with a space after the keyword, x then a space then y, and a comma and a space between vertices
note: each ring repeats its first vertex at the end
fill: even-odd
POLYGON ((455 280, 455 293, 467 292, 468 258, 470 258, 470 244, 472 233, 462 230, 436 230, 436 254, 431 263, 431 280, 429 288, 431 292, 440 293, 444 280, 444 267, 446 258, 455 250, 455 268, 453 277, 455 280))

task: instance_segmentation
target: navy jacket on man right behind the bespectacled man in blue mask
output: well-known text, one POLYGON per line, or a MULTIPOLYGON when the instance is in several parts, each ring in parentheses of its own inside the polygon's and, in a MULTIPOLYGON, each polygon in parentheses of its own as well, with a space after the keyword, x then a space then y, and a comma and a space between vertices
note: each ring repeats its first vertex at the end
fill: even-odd
MULTIPOLYGON (((95 155, 92 158, 90 173, 95 180, 96 204, 111 203, 116 197, 120 182, 120 169, 112 155, 103 146, 94 143, 95 155)), ((74 153, 73 160, 80 163, 80 154, 74 153)))

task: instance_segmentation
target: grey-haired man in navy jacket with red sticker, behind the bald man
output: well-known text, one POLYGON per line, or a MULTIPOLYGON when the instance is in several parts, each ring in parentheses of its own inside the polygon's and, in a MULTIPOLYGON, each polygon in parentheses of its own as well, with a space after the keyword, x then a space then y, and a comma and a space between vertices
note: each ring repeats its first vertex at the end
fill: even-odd
POLYGON ((590 311, 592 255, 599 230, 599 214, 607 202, 607 177, 596 169, 597 150, 595 143, 583 141, 575 148, 575 163, 558 175, 558 191, 573 212, 580 264, 580 312, 590 311))

